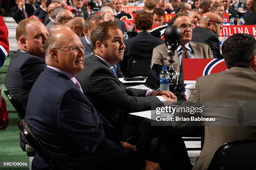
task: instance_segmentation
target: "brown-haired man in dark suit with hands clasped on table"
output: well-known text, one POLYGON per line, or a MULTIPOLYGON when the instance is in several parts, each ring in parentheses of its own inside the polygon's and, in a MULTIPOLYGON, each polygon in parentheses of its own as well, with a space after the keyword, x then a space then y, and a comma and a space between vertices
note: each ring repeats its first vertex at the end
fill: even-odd
POLYGON ((123 134, 125 113, 150 110, 151 105, 161 106, 161 101, 175 98, 169 91, 137 90, 120 85, 113 67, 123 59, 125 45, 123 33, 116 23, 108 21, 95 25, 91 42, 93 55, 85 60, 85 69, 77 79, 84 94, 120 134, 123 134))

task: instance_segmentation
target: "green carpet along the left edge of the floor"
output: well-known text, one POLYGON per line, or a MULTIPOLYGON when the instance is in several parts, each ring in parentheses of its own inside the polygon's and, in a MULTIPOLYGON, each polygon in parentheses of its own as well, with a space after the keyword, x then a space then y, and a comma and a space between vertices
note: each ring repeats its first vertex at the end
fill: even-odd
POLYGON ((3 162, 20 162, 20 163, 28 163, 28 156, 26 152, 23 152, 20 148, 20 137, 19 137, 19 129, 17 127, 18 116, 15 112, 15 109, 9 102, 9 100, 5 97, 4 90, 5 88, 5 76, 10 64, 10 54, 3 67, 0 68, 0 73, 2 76, 2 95, 5 98, 5 102, 7 104, 7 110, 9 112, 9 125, 5 131, 0 131, 0 170, 28 170, 28 168, 3 168, 3 162))

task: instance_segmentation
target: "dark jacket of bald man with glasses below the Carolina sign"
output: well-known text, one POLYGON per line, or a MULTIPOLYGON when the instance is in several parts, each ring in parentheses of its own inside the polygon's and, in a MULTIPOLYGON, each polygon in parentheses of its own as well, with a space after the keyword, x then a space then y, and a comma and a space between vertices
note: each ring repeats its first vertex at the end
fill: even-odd
POLYGON ((207 28, 195 27, 192 34, 193 42, 202 42, 209 45, 212 55, 215 58, 223 58, 220 56, 220 41, 218 36, 207 28))

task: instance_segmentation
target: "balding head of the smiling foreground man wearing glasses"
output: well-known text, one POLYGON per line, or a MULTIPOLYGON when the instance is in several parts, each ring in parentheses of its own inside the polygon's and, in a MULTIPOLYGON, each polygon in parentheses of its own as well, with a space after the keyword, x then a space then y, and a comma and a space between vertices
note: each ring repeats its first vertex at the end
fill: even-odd
POLYGON ((76 76, 84 69, 83 44, 71 30, 58 30, 46 39, 46 64, 76 76))

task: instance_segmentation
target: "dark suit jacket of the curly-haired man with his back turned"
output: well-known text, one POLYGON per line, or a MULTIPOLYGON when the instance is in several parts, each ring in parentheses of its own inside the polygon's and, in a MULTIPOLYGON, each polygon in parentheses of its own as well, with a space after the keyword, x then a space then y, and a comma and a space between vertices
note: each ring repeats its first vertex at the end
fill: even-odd
POLYGON ((121 71, 125 73, 130 63, 139 58, 151 58, 154 47, 163 44, 164 40, 154 37, 149 32, 140 32, 135 37, 125 40, 123 61, 120 62, 121 71))

